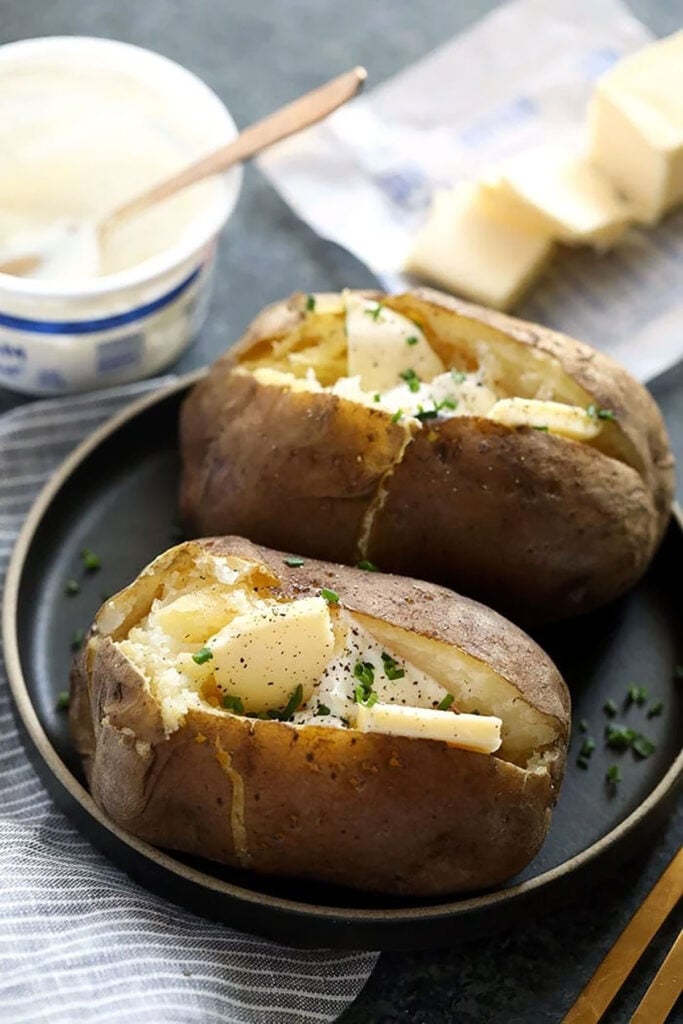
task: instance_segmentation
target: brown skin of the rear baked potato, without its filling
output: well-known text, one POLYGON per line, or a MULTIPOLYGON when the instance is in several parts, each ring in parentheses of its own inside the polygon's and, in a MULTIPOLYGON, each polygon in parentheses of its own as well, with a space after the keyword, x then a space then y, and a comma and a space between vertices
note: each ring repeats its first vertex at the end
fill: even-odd
POLYGON ((615 413, 610 429, 626 461, 474 417, 430 421, 396 459, 404 433, 398 424, 391 435, 379 411, 371 427, 359 406, 254 381, 247 403, 249 378, 233 371, 305 315, 295 295, 264 310, 183 406, 180 506, 189 532, 242 531, 351 564, 369 558, 523 623, 583 613, 632 587, 664 536, 674 494, 673 456, 649 392, 606 355, 547 328, 431 289, 364 294, 421 323, 437 348, 439 325, 455 316, 553 356, 615 413), (380 487, 381 511, 362 540, 380 487))

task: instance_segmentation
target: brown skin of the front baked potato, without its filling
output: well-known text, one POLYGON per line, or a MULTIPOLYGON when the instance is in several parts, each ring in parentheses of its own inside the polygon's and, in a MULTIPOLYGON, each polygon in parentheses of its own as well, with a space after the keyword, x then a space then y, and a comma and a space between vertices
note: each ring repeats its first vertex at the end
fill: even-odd
POLYGON ((431 584, 312 560, 292 568, 282 553, 239 538, 172 549, 113 602, 128 606, 136 595, 141 617, 156 582, 200 546, 267 566, 280 579, 274 594, 334 587, 351 610, 485 655, 554 722, 549 770, 435 740, 221 712, 193 711, 167 737, 144 680, 113 643, 131 617, 111 635, 96 618, 74 662, 70 720, 93 798, 116 824, 234 867, 412 896, 495 886, 528 863, 561 783, 569 700, 557 669, 521 630, 431 584))

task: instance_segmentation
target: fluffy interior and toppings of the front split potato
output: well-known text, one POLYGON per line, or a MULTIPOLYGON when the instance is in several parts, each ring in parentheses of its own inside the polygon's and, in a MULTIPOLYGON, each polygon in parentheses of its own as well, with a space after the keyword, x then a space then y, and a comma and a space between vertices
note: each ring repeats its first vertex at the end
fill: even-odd
MULTIPOLYGON (((276 584, 244 559, 208 552, 191 563, 181 558, 147 592, 146 608, 138 603, 138 620, 116 633, 167 733, 198 709, 294 727, 396 730, 498 751, 521 766, 554 739, 545 717, 477 658, 323 594, 285 600, 276 584)), ((116 620, 126 593, 110 602, 100 628, 108 615, 116 620)))

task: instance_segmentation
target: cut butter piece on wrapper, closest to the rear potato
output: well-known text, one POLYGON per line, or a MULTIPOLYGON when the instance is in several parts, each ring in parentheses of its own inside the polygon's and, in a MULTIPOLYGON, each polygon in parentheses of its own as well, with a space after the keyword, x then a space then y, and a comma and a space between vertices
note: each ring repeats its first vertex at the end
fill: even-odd
POLYGON ((452 292, 508 309, 539 275, 552 252, 547 232, 490 215, 479 185, 439 191, 415 239, 405 269, 452 292))

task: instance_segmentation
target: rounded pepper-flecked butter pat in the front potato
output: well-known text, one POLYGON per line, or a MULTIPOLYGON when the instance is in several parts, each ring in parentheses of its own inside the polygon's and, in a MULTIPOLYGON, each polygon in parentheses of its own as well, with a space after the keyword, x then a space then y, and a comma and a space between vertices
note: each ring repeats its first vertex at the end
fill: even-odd
POLYGON ((302 700, 313 692, 334 653, 335 636, 327 601, 306 597, 261 604, 238 615, 207 647, 219 689, 239 696, 246 711, 287 703, 301 684, 302 700))

